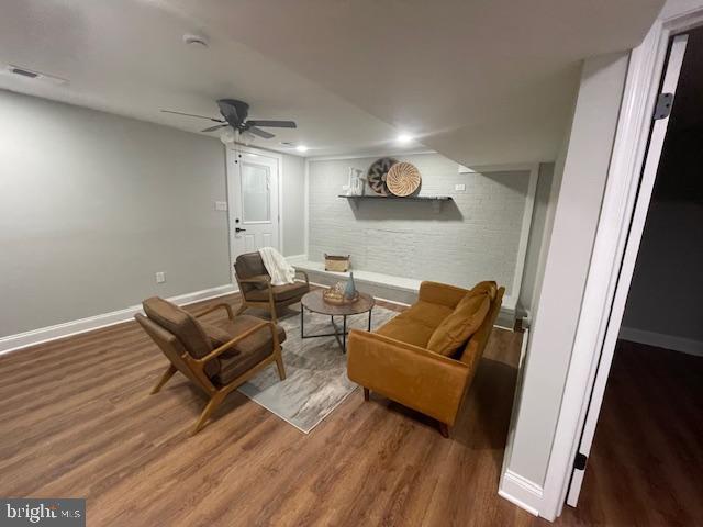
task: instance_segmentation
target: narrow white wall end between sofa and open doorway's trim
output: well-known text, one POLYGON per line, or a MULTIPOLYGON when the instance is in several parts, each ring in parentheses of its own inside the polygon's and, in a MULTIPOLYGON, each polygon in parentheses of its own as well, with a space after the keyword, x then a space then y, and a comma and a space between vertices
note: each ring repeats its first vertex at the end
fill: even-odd
POLYGON ((627 67, 624 54, 583 65, 554 226, 527 348, 502 491, 538 509, 573 345, 627 67), (524 491, 524 492, 523 492, 524 491))

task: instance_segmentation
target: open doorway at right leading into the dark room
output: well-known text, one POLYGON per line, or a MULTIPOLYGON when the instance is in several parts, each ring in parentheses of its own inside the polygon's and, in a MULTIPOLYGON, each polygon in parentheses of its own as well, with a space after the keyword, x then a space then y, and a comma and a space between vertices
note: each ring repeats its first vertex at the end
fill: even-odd
POLYGON ((672 40, 661 91, 673 104, 655 112, 620 338, 601 357, 567 498, 569 516, 614 525, 703 525, 703 27, 672 40))

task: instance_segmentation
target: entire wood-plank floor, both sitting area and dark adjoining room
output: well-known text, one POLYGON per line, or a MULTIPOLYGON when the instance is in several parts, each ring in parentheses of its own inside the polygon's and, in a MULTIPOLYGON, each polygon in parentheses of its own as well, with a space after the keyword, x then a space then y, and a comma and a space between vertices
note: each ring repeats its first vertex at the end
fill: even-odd
MULTIPOLYGON (((190 437, 204 397, 178 377, 148 395, 166 360, 134 323, 9 354, 0 495, 86 497, 89 526, 549 525, 496 494, 521 338, 494 330, 450 439, 359 390, 308 436, 235 392, 190 437)), ((702 362, 621 343, 555 525, 703 525, 702 362)))

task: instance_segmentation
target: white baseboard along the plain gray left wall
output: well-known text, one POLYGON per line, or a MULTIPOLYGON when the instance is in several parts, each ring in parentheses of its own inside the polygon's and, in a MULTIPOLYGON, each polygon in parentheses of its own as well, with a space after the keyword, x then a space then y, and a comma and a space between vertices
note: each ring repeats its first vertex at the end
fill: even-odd
MULTIPOLYGON (((188 305, 194 302, 202 302, 203 300, 215 299, 225 294, 235 293, 236 291, 236 287, 232 283, 228 283, 226 285, 204 289, 202 291, 196 291, 193 293, 179 294, 178 296, 171 296, 168 300, 178 305, 188 305)), ((63 324, 56 324, 54 326, 41 327, 38 329, 18 333, 15 335, 8 335, 7 337, 0 338, 0 355, 15 351, 21 348, 26 348, 27 346, 34 346, 36 344, 56 340, 57 338, 69 337, 79 333, 91 332, 100 327, 120 324, 122 322, 132 319, 132 317, 134 317, 134 315, 140 312, 142 312, 141 305, 132 305, 130 307, 125 307, 124 310, 113 311, 111 313, 103 313, 101 315, 65 322, 63 324)))

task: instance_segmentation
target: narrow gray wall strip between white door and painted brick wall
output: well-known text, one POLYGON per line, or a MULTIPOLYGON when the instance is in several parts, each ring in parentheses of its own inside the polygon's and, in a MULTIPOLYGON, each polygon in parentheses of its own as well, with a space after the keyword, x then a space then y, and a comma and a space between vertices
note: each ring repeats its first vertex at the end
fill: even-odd
POLYGON ((284 256, 305 253, 305 160, 299 156, 283 154, 281 195, 283 204, 284 256))

